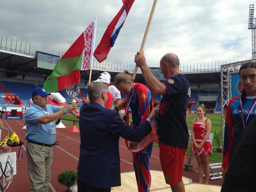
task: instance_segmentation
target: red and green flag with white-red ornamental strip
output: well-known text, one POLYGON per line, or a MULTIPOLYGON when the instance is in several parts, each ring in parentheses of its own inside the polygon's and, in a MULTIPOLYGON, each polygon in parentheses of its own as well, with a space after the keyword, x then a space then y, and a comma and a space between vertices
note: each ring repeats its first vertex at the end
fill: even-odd
POLYGON ((86 28, 67 52, 60 58, 50 76, 44 82, 48 93, 64 90, 80 82, 80 70, 92 68, 96 22, 86 28))

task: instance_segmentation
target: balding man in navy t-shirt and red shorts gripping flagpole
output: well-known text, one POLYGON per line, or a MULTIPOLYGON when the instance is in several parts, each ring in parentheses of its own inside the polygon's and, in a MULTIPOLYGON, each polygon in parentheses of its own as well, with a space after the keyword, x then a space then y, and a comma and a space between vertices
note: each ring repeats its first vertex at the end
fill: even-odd
POLYGON ((162 83, 147 66, 143 52, 137 52, 134 61, 152 94, 162 95, 158 111, 160 162, 166 184, 170 184, 172 192, 184 192, 182 171, 189 138, 186 124, 189 82, 180 73, 180 61, 176 54, 165 54, 160 60, 161 73, 166 79, 162 83))

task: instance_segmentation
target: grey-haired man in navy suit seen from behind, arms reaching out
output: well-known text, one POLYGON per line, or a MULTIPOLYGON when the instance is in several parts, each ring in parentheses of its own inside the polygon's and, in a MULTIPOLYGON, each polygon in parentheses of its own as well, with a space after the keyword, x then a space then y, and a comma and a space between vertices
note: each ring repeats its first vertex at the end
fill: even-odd
POLYGON ((121 185, 119 137, 137 142, 150 133, 158 106, 145 122, 132 129, 118 113, 125 99, 114 110, 104 108, 108 95, 102 82, 92 82, 87 93, 90 103, 82 105, 79 118, 78 192, 110 192, 111 187, 121 185))

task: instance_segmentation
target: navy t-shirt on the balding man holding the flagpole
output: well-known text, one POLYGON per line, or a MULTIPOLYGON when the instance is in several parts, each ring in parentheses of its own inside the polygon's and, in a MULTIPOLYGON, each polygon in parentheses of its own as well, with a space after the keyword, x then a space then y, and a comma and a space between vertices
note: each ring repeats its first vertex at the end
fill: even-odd
POLYGON ((176 74, 162 82, 167 95, 162 96, 158 112, 159 141, 180 148, 188 148, 186 111, 190 98, 190 86, 183 74, 176 74))

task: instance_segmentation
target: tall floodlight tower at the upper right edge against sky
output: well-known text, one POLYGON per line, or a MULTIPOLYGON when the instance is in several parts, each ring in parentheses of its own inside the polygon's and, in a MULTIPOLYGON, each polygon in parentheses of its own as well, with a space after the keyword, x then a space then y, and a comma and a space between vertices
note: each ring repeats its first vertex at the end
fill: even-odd
POLYGON ((255 34, 256 34, 256 22, 254 16, 254 4, 249 7, 249 22, 248 29, 252 29, 252 59, 256 58, 256 44, 255 44, 255 34))

